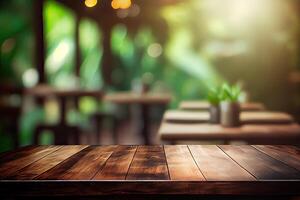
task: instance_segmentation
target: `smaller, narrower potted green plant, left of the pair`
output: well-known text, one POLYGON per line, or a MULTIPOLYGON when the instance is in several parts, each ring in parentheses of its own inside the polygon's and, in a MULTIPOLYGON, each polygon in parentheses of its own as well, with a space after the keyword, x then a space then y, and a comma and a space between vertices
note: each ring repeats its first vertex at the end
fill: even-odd
POLYGON ((209 90, 207 95, 207 100, 210 103, 209 113, 210 113, 210 123, 218 124, 220 123, 220 89, 213 88, 209 90))

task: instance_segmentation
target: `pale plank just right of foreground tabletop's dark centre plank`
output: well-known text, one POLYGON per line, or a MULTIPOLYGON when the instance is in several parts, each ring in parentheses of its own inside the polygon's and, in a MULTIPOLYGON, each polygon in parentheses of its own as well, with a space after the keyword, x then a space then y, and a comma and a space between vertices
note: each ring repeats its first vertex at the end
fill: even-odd
POLYGON ((186 145, 165 145, 171 180, 205 180, 186 145))

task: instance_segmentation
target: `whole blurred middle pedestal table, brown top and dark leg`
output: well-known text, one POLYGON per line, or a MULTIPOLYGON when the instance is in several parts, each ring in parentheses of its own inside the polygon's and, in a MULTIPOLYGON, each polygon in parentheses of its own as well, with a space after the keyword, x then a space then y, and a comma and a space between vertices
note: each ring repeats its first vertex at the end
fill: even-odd
POLYGON ((138 105, 141 109, 141 126, 140 134, 144 137, 145 144, 150 143, 150 120, 149 109, 153 105, 166 106, 172 99, 170 94, 158 93, 134 93, 134 92, 118 92, 106 94, 104 101, 115 104, 138 105))

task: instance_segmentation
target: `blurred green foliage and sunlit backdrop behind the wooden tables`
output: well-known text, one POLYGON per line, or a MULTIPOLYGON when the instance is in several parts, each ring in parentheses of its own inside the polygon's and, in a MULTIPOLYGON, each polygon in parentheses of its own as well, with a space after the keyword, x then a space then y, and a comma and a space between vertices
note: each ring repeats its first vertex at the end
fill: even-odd
MULTIPOLYGON (((299 16, 298 0, 0 1, 0 151, 34 143, 39 124, 59 121, 56 98, 24 94, 40 84, 109 93, 146 82, 172 94, 172 108, 227 81, 299 122, 299 16)), ((116 143, 113 129, 117 143, 142 143, 131 133, 135 108, 89 95, 67 107, 80 143, 116 143), (95 139, 99 113, 109 120, 95 139)), ((153 137, 163 109, 151 110, 153 137)), ((40 143, 53 142, 44 131, 40 143)))

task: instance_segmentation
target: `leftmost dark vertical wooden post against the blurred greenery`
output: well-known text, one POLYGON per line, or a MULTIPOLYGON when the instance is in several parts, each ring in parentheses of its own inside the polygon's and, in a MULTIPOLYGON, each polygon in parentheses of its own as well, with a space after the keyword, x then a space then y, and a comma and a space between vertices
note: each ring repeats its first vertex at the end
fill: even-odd
POLYGON ((35 65, 39 74, 39 83, 45 83, 44 0, 35 0, 34 4, 35 65))

